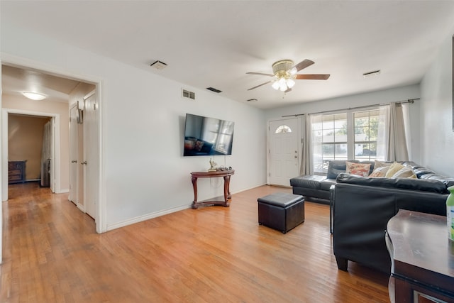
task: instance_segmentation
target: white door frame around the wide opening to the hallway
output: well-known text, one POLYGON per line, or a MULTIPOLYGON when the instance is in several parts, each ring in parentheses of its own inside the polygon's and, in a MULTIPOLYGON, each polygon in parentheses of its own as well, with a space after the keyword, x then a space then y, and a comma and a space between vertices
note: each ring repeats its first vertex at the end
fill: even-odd
MULTIPOLYGON (((96 86, 96 98, 98 101, 97 105, 97 115, 96 115, 96 122, 98 126, 98 156, 99 156, 99 175, 98 175, 98 180, 99 180, 99 189, 98 192, 96 193, 98 198, 97 201, 99 202, 97 204, 97 212, 96 212, 96 232, 97 233, 104 233, 107 231, 107 224, 106 224, 106 184, 105 184, 105 169, 104 169, 104 79, 100 77, 93 77, 89 75, 80 75, 74 73, 74 71, 70 70, 64 70, 62 67, 55 67, 51 65, 47 65, 42 62, 37 62, 34 60, 27 59, 25 57, 18 57, 14 55, 9 55, 6 53, 0 53, 0 67, 1 65, 11 65, 11 66, 16 66, 16 67, 26 67, 26 68, 32 68, 35 70, 40 70, 42 72, 48 73, 50 75, 55 75, 57 77, 66 77, 70 79, 78 79, 81 82, 88 82, 92 83, 96 86)), ((1 77, 0 77, 1 78, 1 77)), ((1 95, 0 95, 0 106, 1 106, 1 95)), ((68 106, 69 108, 69 106, 68 106)), ((3 120, 3 115, 1 116, 1 119, 3 120)), ((2 127, 3 127, 3 121, 1 121, 2 127)), ((6 157, 7 150, 5 153, 4 149, 4 134, 3 131, 1 132, 1 140, 0 140, 0 158, 2 159, 1 161, 1 166, 2 166, 2 171, 5 171, 4 165, 8 165, 8 163, 4 161, 4 158, 6 157)), ((1 186, 0 186, 0 197, 4 196, 4 192, 8 192, 8 187, 4 187, 5 180, 4 179, 4 174, 1 174, 0 180, 1 180, 1 186)), ((7 178, 6 178, 7 180, 7 178)), ((7 184, 6 184, 7 185, 7 184)), ((1 208, 0 208, 1 209, 1 208)), ((1 215, 1 211, 0 211, 1 215)), ((2 238, 1 235, 3 235, 3 216, 0 216, 0 239, 2 238)), ((1 240, 0 240, 1 244, 1 240)), ((2 246, 0 246, 0 264, 2 262, 2 246)))

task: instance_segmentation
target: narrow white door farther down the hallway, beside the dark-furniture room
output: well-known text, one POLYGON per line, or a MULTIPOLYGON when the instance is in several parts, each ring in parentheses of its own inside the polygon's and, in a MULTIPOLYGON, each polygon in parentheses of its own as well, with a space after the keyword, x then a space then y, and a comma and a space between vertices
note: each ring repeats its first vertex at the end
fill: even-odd
POLYGON ((77 186, 77 104, 70 109, 70 201, 79 204, 78 186, 77 186))

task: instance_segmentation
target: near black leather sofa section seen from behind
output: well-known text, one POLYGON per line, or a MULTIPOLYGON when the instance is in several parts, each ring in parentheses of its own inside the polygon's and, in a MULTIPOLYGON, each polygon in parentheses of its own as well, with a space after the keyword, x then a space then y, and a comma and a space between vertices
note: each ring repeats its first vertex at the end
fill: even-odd
POLYGON ((454 184, 454 179, 415 163, 407 165, 418 179, 338 175, 333 202, 333 253, 339 269, 347 270, 350 260, 389 273, 391 259, 384 231, 399 209, 446 216, 446 188, 454 184))

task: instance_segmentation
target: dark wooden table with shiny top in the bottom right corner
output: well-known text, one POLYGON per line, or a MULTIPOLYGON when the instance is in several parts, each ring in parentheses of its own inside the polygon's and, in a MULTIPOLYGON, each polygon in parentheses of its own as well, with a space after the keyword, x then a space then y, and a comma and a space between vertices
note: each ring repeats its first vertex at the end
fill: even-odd
POLYGON ((387 224, 386 241, 391 302, 454 302, 454 242, 445 216, 400 209, 387 224))

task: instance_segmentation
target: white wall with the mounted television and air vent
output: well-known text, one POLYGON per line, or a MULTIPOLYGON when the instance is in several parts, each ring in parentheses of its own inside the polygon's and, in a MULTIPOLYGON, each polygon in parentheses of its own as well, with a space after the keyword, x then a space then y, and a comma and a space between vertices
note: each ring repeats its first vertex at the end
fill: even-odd
MULTIPOLYGON (((80 75, 79 79, 84 75, 102 79, 105 179, 101 186, 106 192, 108 229, 192 203, 190 172, 206 170, 209 157, 182 157, 186 113, 235 122, 233 155, 225 162, 236 170, 231 192, 266 182, 265 114, 260 109, 9 25, 1 27, 1 53, 64 75, 80 75), (196 92, 196 101, 182 99, 182 87, 196 92)), ((214 160, 224 165, 223 157, 214 160)), ((199 200, 222 192, 222 184, 199 180, 199 200)))

